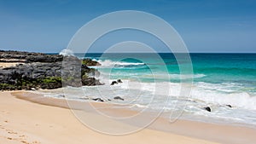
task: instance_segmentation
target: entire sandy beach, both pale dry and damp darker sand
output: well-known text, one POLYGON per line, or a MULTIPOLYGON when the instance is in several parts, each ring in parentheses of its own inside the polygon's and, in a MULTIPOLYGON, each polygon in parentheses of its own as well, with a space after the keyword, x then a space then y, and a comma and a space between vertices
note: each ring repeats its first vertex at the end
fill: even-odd
MULTIPOLYGON (((66 101, 42 98, 40 95, 22 97, 24 94, 28 93, 21 91, 14 95, 21 95, 18 97, 28 101, 18 99, 10 92, 0 93, 0 144, 212 144, 215 143, 212 141, 218 141, 218 143, 253 143, 256 141, 256 130, 253 129, 181 120, 169 124, 165 118, 159 118, 149 128, 131 135, 105 135, 90 130, 79 122, 74 117, 73 112, 65 108, 67 107, 66 101), (52 107, 56 105, 61 107, 52 107)), ((93 105, 105 107, 102 112, 112 113, 113 115, 116 113, 108 108, 108 104, 94 103, 93 105)), ((91 123, 101 127, 108 127, 111 124, 116 124, 118 128, 136 127, 114 120, 105 121, 93 112, 83 113, 90 119, 91 123)), ((129 110, 122 110, 121 113, 124 115, 134 114, 129 110)))

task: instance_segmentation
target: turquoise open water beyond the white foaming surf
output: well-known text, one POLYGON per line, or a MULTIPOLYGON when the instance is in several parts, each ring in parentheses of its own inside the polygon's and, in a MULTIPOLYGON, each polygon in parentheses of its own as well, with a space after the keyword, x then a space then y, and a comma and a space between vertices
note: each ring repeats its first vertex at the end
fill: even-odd
MULTIPOLYGON (((113 79, 136 77, 146 83, 155 81, 179 83, 181 79, 191 78, 189 74, 179 75, 179 66, 184 66, 186 63, 180 62, 178 66, 174 55, 165 53, 159 55, 161 60, 151 54, 133 54, 134 58, 129 58, 131 55, 127 56, 127 54, 86 54, 85 56, 99 60, 103 65, 99 69, 110 73, 113 79), (165 77, 166 69, 170 78, 165 77)), ((256 54, 190 54, 190 57, 195 83, 237 84, 241 88, 236 90, 256 92, 256 54)))

